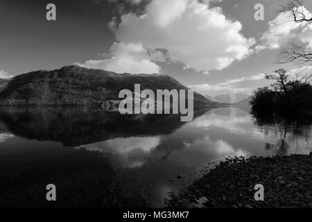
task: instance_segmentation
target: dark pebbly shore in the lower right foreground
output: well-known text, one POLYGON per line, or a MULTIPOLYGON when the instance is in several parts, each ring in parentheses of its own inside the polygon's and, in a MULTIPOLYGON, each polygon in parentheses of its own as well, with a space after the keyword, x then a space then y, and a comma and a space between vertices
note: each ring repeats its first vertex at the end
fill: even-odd
POLYGON ((288 208, 312 207, 312 153, 226 158, 178 193, 166 207, 288 208), (264 187, 264 200, 254 200, 264 187))

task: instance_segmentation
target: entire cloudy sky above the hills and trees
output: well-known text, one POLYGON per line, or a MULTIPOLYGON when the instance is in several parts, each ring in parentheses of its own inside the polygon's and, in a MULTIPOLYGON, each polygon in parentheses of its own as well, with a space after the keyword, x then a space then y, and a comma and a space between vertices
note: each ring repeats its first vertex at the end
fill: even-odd
MULTIPOLYGON (((0 0, 0 78, 66 65, 166 74, 202 94, 251 94, 284 67, 277 53, 312 24, 278 12, 286 0, 0 0), (56 6, 56 21, 46 5, 56 6), (254 6, 264 6, 257 21, 254 6)), ((312 2, 304 1, 312 12, 312 2)))

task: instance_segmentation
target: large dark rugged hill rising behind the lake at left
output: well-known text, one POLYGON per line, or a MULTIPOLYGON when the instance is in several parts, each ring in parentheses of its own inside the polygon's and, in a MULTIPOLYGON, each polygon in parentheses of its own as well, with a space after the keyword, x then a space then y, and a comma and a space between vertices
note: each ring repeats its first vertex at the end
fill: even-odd
MULTIPOLYGON (((121 101, 121 89, 188 89, 174 78, 158 74, 116 74, 76 65, 52 71, 32 71, 0 82, 0 105, 99 105, 121 101), (2 87, 1 87, 2 85, 2 87)), ((194 107, 211 104, 194 92, 194 107)))

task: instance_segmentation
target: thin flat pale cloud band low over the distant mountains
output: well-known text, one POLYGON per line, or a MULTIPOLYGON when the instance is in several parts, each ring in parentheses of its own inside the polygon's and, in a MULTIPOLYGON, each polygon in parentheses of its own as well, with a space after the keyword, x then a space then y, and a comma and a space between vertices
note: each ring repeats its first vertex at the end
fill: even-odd
POLYGON ((216 96, 218 94, 225 93, 244 93, 251 94, 252 90, 270 85, 271 80, 266 80, 265 74, 258 74, 251 77, 234 78, 227 80, 217 85, 191 85, 191 89, 196 90, 201 94, 209 94, 210 96, 216 96))

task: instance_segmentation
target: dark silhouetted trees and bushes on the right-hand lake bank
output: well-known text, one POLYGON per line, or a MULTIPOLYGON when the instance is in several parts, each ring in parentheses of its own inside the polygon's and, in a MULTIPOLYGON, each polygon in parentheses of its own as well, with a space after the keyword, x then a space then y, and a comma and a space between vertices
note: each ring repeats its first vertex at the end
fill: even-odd
POLYGON ((312 112, 312 85, 310 76, 288 74, 285 69, 278 69, 267 74, 274 83, 270 87, 254 90, 251 105, 253 112, 288 113, 312 112), (291 78, 293 76, 293 78, 291 78))

